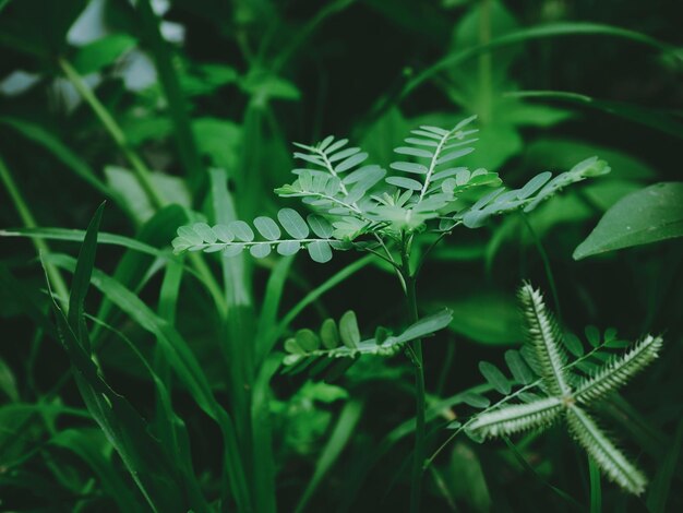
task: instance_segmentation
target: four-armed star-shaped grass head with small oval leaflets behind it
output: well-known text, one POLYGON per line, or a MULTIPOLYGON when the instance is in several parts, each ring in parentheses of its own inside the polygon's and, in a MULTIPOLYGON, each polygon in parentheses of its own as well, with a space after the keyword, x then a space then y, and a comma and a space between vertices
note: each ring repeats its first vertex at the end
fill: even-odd
POLYGON ((568 363, 564 347, 572 347, 573 354, 583 354, 580 343, 579 347, 575 341, 563 343, 565 337, 547 310, 542 295, 530 284, 525 284, 520 288, 519 299, 528 335, 522 355, 526 356, 529 366, 540 379, 534 382, 525 369, 520 355, 508 351, 505 360, 513 375, 518 382, 525 383, 523 389, 510 393, 511 385, 504 374, 491 363, 480 363, 482 374, 491 385, 506 395, 493 406, 475 415, 463 429, 476 438, 486 439, 542 429, 564 418, 573 438, 588 452, 608 478, 631 493, 643 493, 647 482, 644 474, 627 460, 609 434, 578 404, 590 406, 607 393, 624 385, 630 378, 657 358, 663 344, 662 338, 647 335, 625 355, 612 357, 597 370, 592 370, 595 366, 587 368, 582 363, 586 363, 602 348, 620 344, 613 339, 614 332, 606 333, 604 342, 599 344, 597 330, 587 330, 595 348, 568 363), (573 368, 591 371, 587 378, 578 380, 571 373, 573 368), (547 396, 529 393, 537 386, 542 389, 547 396), (514 398, 519 398, 523 403, 507 404, 514 398))

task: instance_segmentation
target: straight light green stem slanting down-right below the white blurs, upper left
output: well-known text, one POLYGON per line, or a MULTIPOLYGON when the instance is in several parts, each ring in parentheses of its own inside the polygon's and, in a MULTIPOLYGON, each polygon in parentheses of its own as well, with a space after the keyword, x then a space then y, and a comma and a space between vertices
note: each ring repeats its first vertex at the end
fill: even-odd
POLYGON ((155 210, 160 208, 166 204, 164 198, 156 191, 154 183, 152 182, 152 171, 142 158, 131 150, 123 130, 117 124, 113 117, 109 114, 107 108, 97 99, 97 96, 83 81, 79 72, 71 65, 69 61, 63 58, 58 59, 59 67, 62 69, 69 82, 76 88, 81 97, 91 106, 95 116, 103 123, 113 142, 119 146, 121 153, 125 156, 128 162, 133 167, 133 172, 140 182, 140 186, 145 191, 145 194, 149 199, 149 202, 155 210))

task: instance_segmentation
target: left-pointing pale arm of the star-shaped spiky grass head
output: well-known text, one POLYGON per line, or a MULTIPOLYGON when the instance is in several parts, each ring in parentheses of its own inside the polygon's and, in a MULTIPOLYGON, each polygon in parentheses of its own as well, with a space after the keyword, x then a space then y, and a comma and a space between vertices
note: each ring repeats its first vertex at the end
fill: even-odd
POLYGON ((469 429, 484 438, 513 434, 550 426, 563 409, 562 399, 547 397, 528 404, 503 406, 478 415, 469 429))

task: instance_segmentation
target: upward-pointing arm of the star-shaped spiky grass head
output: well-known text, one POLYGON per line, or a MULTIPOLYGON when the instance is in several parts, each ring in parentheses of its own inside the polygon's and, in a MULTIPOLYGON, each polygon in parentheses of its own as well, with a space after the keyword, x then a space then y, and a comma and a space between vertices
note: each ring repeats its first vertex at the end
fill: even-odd
POLYGON ((542 294, 531 284, 525 283, 518 296, 528 339, 534 348, 535 358, 530 363, 551 395, 566 396, 571 393, 564 369, 567 357, 558 323, 546 308, 542 294))

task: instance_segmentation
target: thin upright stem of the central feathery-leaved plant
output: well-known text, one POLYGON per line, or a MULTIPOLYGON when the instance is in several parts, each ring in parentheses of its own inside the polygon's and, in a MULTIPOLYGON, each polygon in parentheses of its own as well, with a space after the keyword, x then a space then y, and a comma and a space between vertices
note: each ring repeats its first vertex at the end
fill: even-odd
MULTIPOLYGON (((402 248, 402 274, 406 284, 406 300, 408 303, 408 315, 410 322, 418 321, 418 300, 416 291, 417 277, 410 272, 410 242, 402 248)), ((412 454, 412 475, 410 485, 410 512, 420 511, 420 498, 422 496, 422 463, 424 456, 424 368, 422 365, 422 341, 418 339, 411 344, 412 363, 415 366, 415 450, 412 454)))

